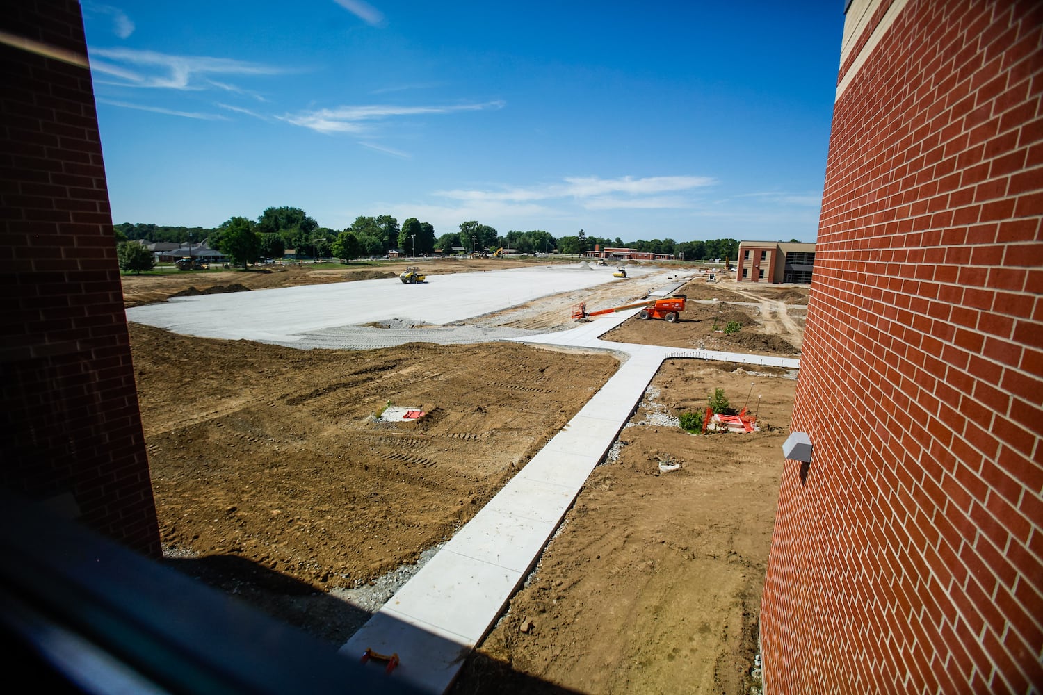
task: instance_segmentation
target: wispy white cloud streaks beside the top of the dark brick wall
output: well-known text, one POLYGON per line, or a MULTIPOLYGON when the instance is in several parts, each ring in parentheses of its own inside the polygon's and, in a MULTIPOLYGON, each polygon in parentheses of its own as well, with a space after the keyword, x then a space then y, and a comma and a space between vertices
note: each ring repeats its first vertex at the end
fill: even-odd
MULTIPOLYGON (((171 55, 130 48, 95 48, 91 50, 91 67, 99 72, 125 79, 123 86, 162 88, 171 90, 207 90, 212 88, 238 91, 239 88, 217 82, 211 75, 277 75, 285 68, 248 63, 234 58, 199 55, 171 55), (105 60, 94 60, 94 56, 105 60)), ((245 91, 244 91, 245 93, 245 91)))

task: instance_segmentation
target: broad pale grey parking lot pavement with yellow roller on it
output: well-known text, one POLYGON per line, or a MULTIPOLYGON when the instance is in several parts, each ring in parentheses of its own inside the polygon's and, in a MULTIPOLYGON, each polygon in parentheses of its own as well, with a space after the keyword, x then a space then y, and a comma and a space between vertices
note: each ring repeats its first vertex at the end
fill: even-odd
MULTIPOLYGON (((403 319, 442 325, 612 281, 612 268, 542 266, 178 297, 127 309, 127 319, 186 336, 294 343, 309 331, 403 319)), ((658 270, 658 269, 655 269, 658 270)), ((650 271, 633 268, 634 276, 650 271)))

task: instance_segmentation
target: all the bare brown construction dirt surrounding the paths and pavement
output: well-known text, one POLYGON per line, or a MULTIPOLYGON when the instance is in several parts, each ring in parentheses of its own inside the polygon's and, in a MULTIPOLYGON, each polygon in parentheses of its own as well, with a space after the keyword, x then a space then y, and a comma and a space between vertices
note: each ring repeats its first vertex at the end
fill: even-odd
MULTIPOLYGON (((511 262, 443 263, 481 270, 511 262)), ((124 295, 137 304, 190 286, 291 287, 401 270, 127 276, 124 295)), ((599 307, 631 301, 644 290, 628 283, 584 299, 599 307)), ((765 306, 803 305, 806 289, 743 288, 750 298, 734 288, 696 274, 678 291, 689 301, 677 323, 631 319, 604 338, 795 354, 803 311, 786 312, 794 336, 765 306), (765 318, 774 332, 765 332, 765 318), (714 331, 730 322, 743 325, 714 331)), ((552 296, 476 322, 560 329, 576 299, 552 296)), ((302 351, 137 324, 130 338, 165 562, 331 649, 379 606, 351 592, 387 585, 451 537, 618 364, 608 353, 512 343, 302 351), (428 416, 379 421, 389 404, 428 416)), ((457 692, 662 692, 681 684, 746 692, 794 376, 664 363, 457 692), (760 431, 682 430, 677 416, 705 407, 715 388, 756 413, 760 431)))

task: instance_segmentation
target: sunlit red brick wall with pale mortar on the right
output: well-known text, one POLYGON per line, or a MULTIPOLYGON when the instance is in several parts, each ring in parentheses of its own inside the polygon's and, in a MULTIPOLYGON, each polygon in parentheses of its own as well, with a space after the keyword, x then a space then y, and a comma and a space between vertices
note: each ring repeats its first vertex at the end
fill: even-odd
POLYGON ((1038 2, 909 0, 838 99, 770 695, 1043 689, 1041 46, 1038 2))

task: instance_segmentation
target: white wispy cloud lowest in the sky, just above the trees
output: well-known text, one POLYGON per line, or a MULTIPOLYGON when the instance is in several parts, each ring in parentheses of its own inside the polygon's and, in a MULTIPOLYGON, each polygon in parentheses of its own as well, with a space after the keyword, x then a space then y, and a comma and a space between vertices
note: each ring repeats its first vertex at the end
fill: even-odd
POLYGON ((708 176, 649 176, 601 178, 566 177, 560 183, 516 187, 501 190, 438 191, 435 195, 468 202, 525 202, 573 198, 587 209, 684 207, 690 202, 683 196, 654 194, 692 192, 713 185, 708 176))

